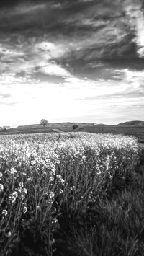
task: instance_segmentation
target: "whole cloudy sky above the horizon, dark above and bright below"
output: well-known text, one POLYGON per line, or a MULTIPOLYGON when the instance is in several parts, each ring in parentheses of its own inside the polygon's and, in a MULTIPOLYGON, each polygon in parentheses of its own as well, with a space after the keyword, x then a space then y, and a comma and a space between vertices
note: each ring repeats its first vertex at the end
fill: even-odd
POLYGON ((143 112, 143 0, 1 0, 0 126, 143 112))

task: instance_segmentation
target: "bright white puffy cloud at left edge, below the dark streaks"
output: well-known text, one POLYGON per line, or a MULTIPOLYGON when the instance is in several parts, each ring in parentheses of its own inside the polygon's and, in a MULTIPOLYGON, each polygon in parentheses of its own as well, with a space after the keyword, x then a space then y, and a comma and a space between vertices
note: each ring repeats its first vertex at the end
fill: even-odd
MULTIPOLYGON (((27 37, 19 37, 19 45, 0 45, 1 51, 1 72, 5 75, 25 76, 27 80, 30 76, 34 78, 35 73, 49 76, 59 76, 63 79, 71 74, 62 65, 53 61, 65 53, 64 46, 60 44, 43 41, 39 42, 35 37, 28 42, 27 37), (24 41, 22 42, 22 39, 24 41)), ((42 75, 41 75, 42 76, 42 75)))

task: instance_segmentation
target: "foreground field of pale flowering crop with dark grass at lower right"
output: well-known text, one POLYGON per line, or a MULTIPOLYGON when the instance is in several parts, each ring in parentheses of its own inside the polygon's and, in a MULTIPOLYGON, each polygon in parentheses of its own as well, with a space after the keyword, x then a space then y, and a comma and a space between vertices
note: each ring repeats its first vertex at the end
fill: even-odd
POLYGON ((110 133, 0 136, 0 255, 144 255, 143 151, 110 133))

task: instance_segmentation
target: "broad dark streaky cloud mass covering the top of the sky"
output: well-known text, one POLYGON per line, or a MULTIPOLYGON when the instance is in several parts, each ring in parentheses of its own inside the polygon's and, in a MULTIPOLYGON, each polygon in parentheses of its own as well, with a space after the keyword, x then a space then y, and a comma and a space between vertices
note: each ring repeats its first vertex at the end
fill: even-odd
MULTIPOLYGON (((83 76, 83 70, 89 73, 94 67, 99 73, 102 63, 104 66, 108 63, 111 69, 114 60, 127 66, 127 63, 133 65, 142 57, 141 6, 140 1, 136 6, 135 1, 126 0, 122 3, 112 1, 109 5, 106 0, 42 1, 40 4, 37 1, 17 1, 11 9, 4 6, 2 11, 5 9, 6 12, 3 12, 5 17, 0 18, 0 28, 14 34, 13 40, 17 41, 14 43, 15 53, 13 49, 8 55, 12 54, 11 58, 14 54, 15 58, 19 56, 29 70, 35 69, 33 62, 39 66, 38 62, 45 59, 45 62, 54 60, 58 70, 63 67, 66 72, 75 73, 79 69, 83 76), (31 61, 27 61, 23 53, 31 61)), ((12 45, 12 42, 8 45, 10 43, 12 45)), ((8 61, 6 54, 4 61, 8 61)), ((16 63, 19 69, 21 61, 16 63)))

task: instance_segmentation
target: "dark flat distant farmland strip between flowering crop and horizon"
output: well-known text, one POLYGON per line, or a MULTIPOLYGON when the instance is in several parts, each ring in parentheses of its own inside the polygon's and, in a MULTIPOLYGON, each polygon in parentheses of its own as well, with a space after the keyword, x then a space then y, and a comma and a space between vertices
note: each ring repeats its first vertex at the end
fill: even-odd
MULTIPOLYGON (((58 133, 58 132, 70 132, 73 131, 72 125, 53 125, 53 127, 35 127, 35 128, 11 128, 8 131, 0 132, 0 135, 6 134, 24 134, 24 133, 58 133)), ((94 125, 87 126, 83 125, 76 129, 76 131, 84 131, 89 133, 114 133, 124 134, 130 136, 136 136, 140 143, 144 143, 144 126, 133 126, 133 125, 94 125)))

